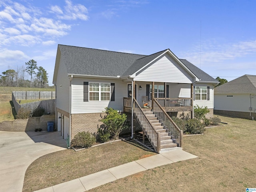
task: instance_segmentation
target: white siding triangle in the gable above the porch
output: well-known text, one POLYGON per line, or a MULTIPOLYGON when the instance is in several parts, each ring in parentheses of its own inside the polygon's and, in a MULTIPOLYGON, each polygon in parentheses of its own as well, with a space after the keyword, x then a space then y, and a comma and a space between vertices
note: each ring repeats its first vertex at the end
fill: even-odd
POLYGON ((158 60, 136 74, 135 81, 192 83, 193 77, 170 54, 166 53, 158 60))

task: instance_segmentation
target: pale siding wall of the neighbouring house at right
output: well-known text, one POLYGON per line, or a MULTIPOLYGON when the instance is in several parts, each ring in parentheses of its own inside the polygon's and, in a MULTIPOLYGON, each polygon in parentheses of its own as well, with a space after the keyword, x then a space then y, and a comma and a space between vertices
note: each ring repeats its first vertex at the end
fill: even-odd
MULTIPOLYGON (((250 112, 250 94, 215 94, 214 109, 225 111, 250 112)), ((252 98, 252 110, 256 109, 256 99, 252 98)), ((254 111, 252 111, 254 112, 254 111)))

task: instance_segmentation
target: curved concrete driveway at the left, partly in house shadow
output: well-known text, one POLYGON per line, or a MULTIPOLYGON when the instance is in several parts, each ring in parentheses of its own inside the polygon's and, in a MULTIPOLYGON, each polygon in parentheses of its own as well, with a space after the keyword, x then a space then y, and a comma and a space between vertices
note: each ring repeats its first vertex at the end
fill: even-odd
POLYGON ((0 192, 22 192, 28 166, 40 156, 66 149, 59 132, 0 131, 0 192))

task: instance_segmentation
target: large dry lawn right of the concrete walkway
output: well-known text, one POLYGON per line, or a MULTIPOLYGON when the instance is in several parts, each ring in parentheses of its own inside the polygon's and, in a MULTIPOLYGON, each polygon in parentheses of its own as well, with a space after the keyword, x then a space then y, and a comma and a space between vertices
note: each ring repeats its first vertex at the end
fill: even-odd
POLYGON ((256 121, 219 116, 225 126, 183 138, 199 158, 160 166, 91 189, 91 192, 245 191, 256 186, 256 121))

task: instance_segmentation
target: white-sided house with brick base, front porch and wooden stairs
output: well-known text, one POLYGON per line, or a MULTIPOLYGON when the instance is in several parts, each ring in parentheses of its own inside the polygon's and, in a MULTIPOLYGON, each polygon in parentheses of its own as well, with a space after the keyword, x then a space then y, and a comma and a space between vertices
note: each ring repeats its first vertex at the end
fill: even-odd
POLYGON ((160 136, 182 146, 182 131, 170 116, 193 118, 196 104, 207 106, 213 116, 217 83, 170 49, 140 55, 58 45, 53 77, 56 124, 71 141, 81 131, 96 133, 105 108, 113 108, 128 115, 132 134, 136 121, 160 152, 170 146, 163 138, 160 142, 160 136))

